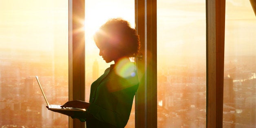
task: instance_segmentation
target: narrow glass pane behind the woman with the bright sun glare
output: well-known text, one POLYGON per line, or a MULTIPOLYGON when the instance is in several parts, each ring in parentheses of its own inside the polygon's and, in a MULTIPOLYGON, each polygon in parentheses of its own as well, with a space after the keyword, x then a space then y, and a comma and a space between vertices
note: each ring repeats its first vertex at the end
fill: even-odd
MULTIPOLYGON (((86 0, 85 1, 85 80, 86 102, 89 102, 90 85, 101 76, 111 63, 106 63, 99 56, 93 34, 110 18, 123 18, 135 28, 135 2, 134 0, 86 0)), ((133 103, 130 119, 126 128, 135 127, 135 104, 133 103)))

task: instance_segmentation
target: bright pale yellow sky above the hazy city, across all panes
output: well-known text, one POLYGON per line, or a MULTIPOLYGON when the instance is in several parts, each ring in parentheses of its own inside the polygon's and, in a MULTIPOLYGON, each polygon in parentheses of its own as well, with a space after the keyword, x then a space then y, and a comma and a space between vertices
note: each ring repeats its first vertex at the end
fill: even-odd
MULTIPOLYGON (((67 50, 68 1, 0 0, 0 52, 67 50), (63 44, 63 45, 62 45, 63 44)), ((158 55, 205 55, 205 0, 157 1, 158 55)), ((134 27, 134 1, 86 2, 86 51, 98 55, 92 35, 108 18, 134 27)), ((226 0, 226 55, 256 55, 256 17, 249 0, 226 0)), ((67 52, 67 51, 66 51, 67 52)))

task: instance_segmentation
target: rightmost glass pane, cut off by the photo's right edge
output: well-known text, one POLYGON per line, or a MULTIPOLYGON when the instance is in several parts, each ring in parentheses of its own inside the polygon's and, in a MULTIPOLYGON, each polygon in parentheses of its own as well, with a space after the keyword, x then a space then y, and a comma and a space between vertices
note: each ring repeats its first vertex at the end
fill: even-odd
POLYGON ((223 128, 256 126, 256 17, 249 0, 226 0, 223 128))

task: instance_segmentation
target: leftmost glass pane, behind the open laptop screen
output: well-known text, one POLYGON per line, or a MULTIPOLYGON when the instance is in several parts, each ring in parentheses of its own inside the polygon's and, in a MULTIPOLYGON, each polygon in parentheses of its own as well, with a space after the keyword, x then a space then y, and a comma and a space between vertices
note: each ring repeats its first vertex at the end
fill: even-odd
POLYGON ((67 128, 68 1, 0 1, 0 127, 67 128))

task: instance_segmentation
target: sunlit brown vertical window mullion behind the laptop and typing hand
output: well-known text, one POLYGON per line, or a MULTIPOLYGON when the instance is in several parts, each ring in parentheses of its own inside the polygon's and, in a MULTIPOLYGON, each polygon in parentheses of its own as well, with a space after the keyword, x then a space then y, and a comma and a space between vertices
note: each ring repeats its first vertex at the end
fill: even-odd
MULTIPOLYGON (((68 0, 68 100, 85 100, 84 0, 68 0)), ((69 118, 70 128, 85 123, 69 118)))

